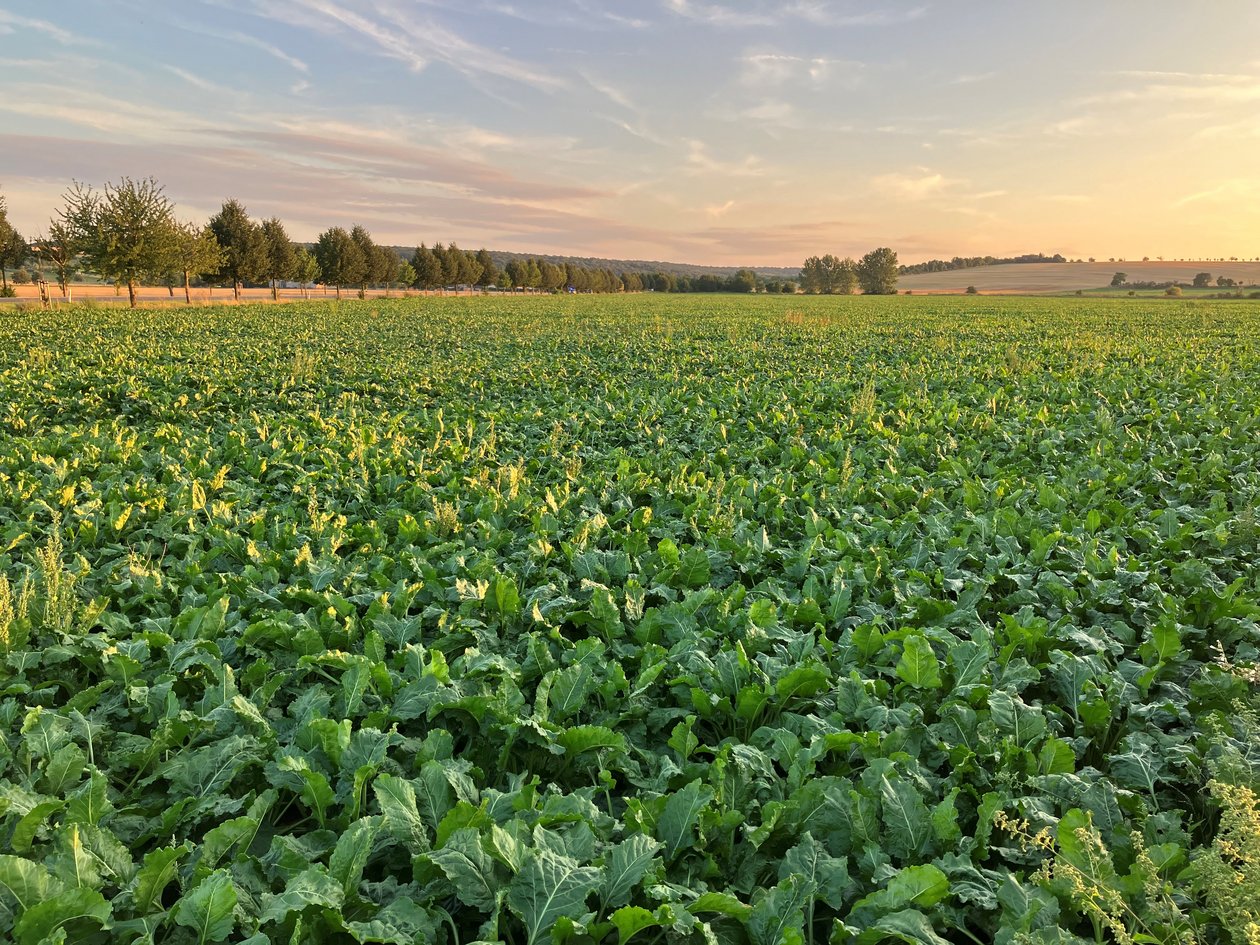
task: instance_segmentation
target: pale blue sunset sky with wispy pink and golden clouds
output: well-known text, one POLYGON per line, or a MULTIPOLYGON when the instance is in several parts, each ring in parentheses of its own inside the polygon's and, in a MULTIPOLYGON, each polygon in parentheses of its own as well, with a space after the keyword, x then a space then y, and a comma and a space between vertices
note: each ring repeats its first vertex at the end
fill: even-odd
POLYGON ((1260 257, 1255 0, 0 0, 0 194, 798 266, 1260 257))

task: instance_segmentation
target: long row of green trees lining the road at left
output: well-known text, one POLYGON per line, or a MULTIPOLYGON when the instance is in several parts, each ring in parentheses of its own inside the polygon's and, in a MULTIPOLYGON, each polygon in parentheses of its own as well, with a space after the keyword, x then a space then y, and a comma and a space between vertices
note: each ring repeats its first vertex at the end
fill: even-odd
MULTIPOLYGON (((44 234, 26 243, 8 220, 0 197, 0 278, 11 294, 9 271, 34 257, 55 276, 62 296, 79 272, 92 272, 107 282, 127 287, 135 307, 142 284, 165 285, 174 295, 183 286, 192 302, 194 282, 231 285, 239 299, 248 285, 267 285, 278 297, 284 284, 323 284, 336 289, 392 289, 408 286, 437 290, 445 286, 527 289, 575 292, 756 292, 795 291, 791 282, 762 285, 752 270, 731 276, 677 276, 616 273, 610 268, 583 267, 547 260, 519 258, 498 267, 485 249, 470 252, 450 246, 421 244, 411 260, 377 244, 360 226, 349 231, 331 227, 312 246, 295 243, 285 224, 272 217, 251 219, 239 200, 227 200, 204 223, 180 222, 174 204, 152 178, 106 184, 103 190, 76 181, 44 234)), ((893 257, 896 258, 896 257, 893 257)))

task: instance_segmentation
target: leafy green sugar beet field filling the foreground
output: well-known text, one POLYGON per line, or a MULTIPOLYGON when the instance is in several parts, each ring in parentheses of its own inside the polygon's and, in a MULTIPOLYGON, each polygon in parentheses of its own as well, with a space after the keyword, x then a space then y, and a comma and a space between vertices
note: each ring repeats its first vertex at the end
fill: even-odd
POLYGON ((1257 508, 1246 302, 0 312, 0 939, 1260 941, 1257 508))

